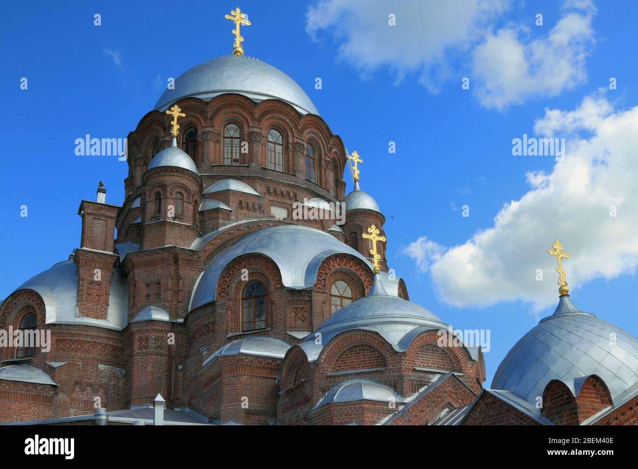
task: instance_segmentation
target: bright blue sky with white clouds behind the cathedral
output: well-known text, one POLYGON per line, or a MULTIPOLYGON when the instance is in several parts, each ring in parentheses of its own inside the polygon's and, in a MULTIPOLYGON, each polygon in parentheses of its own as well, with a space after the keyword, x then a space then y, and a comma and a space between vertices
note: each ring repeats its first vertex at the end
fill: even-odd
MULTIPOLYGON (((547 249, 556 237, 571 255, 572 301, 638 336, 638 4, 239 6, 252 22, 242 27, 246 55, 290 75, 363 158, 361 187, 387 217, 389 264, 410 299, 456 328, 491 331, 487 386, 509 348, 553 311, 558 285, 547 249), (512 156, 512 139, 523 134, 566 138, 572 151, 560 163, 512 156), (618 216, 609 217, 610 205, 618 216)), ((78 205, 93 200, 98 181, 107 202, 124 197, 126 163, 75 156, 75 139, 126 137, 168 77, 230 54, 223 15, 234 7, 4 6, 0 297, 78 246, 78 205)))

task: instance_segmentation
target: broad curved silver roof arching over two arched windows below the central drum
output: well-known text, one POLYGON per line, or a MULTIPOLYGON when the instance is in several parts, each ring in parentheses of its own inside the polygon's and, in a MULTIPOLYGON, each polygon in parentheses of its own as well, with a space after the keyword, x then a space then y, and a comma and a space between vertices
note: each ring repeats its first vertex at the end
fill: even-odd
POLYGON ((212 260, 193 288, 189 311, 214 301, 223 269, 234 258, 247 253, 271 258, 279 267, 283 284, 297 290, 315 285, 319 266, 333 254, 358 257, 372 270, 365 257, 327 232, 297 225, 263 228, 244 236, 212 260))

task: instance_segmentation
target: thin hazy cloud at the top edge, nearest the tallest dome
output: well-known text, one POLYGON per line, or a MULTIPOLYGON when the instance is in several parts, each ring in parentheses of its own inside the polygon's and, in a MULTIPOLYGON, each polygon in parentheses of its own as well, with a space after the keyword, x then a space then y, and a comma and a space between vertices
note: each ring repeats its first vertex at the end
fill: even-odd
POLYGON ((363 71, 388 66, 397 81, 420 71, 419 81, 430 91, 449 71, 445 52, 465 49, 504 11, 510 0, 323 0, 306 15, 306 31, 316 39, 329 29, 341 42, 339 56, 363 71), (396 26, 389 26, 389 15, 396 26))

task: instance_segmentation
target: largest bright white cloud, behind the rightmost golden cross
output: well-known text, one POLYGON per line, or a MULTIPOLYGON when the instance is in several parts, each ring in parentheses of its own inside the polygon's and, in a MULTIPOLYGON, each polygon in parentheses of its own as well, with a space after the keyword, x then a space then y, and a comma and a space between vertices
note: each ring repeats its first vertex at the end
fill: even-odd
MULTIPOLYGON (((565 159, 549 174, 528 174, 530 191, 505 204, 493 227, 443 254, 434 250, 430 271, 443 301, 488 306, 521 299, 537 310, 555 304, 556 258, 547 249, 556 238, 570 255, 563 266, 572 291, 595 278, 635 271, 638 107, 614 110, 604 97, 590 96, 569 112, 545 110, 535 131, 570 136, 565 159), (543 281, 535 279, 537 269, 543 281)), ((422 239, 405 251, 420 268, 432 250, 418 249, 422 239)))

